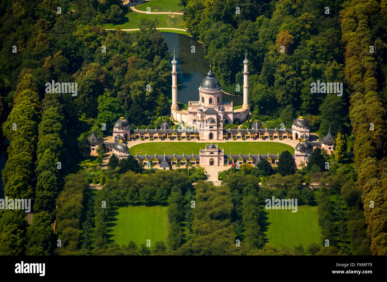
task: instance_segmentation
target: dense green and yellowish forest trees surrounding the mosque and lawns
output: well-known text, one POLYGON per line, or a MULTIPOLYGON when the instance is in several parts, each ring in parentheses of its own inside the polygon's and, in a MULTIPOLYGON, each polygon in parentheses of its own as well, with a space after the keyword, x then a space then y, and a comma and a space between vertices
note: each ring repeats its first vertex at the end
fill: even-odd
POLYGON ((4 196, 31 199, 34 217, 29 225, 24 211, 0 211, 0 254, 386 255, 387 1, 181 2, 184 26, 202 42, 224 91, 241 95, 235 85, 243 84, 247 50, 247 126, 268 118, 289 128, 303 115, 311 132, 322 137, 330 129, 336 136, 335 154, 315 150, 301 170, 289 152, 274 168, 265 162, 226 168, 218 187, 203 181, 203 168, 145 170, 133 158, 111 159, 108 169, 91 176, 79 162, 89 156, 92 129, 99 137, 110 134, 120 116, 132 128, 154 128, 168 113, 171 54, 157 22, 142 19, 131 33, 106 31, 103 24, 128 12, 119 0, 75 0, 74 12, 65 0, 4 0, 0 154, 7 162, 1 177, 4 196), (77 96, 47 93, 51 81, 77 83, 77 96), (342 83, 342 96, 312 93, 318 81, 342 83), (93 178, 105 183, 96 194, 85 191, 93 178), (304 182, 318 183, 319 192, 304 182), (317 205, 331 247, 266 244, 263 204, 271 196, 317 205), (190 208, 192 201, 197 208, 190 208), (108 223, 125 205, 168 206, 167 241, 152 249, 114 244, 108 223))

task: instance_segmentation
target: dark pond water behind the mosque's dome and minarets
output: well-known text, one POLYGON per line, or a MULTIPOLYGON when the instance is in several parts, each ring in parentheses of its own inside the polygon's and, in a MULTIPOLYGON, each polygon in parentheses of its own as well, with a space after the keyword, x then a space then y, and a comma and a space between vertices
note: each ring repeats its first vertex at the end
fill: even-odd
MULTIPOLYGON (((202 45, 185 34, 171 32, 162 32, 162 34, 168 45, 168 52, 173 54, 173 50, 176 50, 176 68, 182 83, 177 94, 178 102, 188 104, 188 101, 198 101, 200 82, 207 76, 210 69, 210 63, 204 58, 202 45), (191 46, 195 46, 195 53, 191 52, 191 46)), ((222 94, 222 100, 233 101, 234 106, 243 103, 242 96, 224 93, 222 94)))

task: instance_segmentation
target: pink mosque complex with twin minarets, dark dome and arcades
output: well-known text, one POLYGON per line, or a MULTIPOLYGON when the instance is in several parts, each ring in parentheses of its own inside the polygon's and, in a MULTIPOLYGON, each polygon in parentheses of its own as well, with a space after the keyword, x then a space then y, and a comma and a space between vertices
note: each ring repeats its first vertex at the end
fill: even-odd
MULTIPOLYGON (((170 124, 163 122, 160 129, 131 129, 130 123, 124 117, 120 117, 113 125, 114 142, 104 142, 98 138, 94 131, 89 141, 92 147, 92 153, 96 154, 96 148, 103 143, 106 151, 112 151, 118 158, 127 158, 129 148, 127 142, 140 138, 154 139, 199 139, 205 141, 229 140, 229 139, 268 139, 281 142, 281 139, 298 140, 295 146, 293 159, 297 165, 302 162, 307 164, 314 148, 324 148, 330 154, 334 150, 334 136, 330 133, 321 138, 321 142, 310 142, 310 129, 307 120, 298 117, 293 120, 289 129, 267 129, 262 128, 259 121, 255 121, 250 129, 224 129, 224 125, 233 123, 235 119, 245 121, 249 119, 250 106, 248 104, 248 60, 245 57, 243 61, 243 105, 242 108, 233 110, 233 103, 222 101, 222 87, 219 80, 214 77, 214 72, 210 65, 210 70, 199 86, 199 101, 188 102, 188 110, 181 110, 177 104, 177 72, 175 55, 172 60, 172 105, 171 117, 177 122, 184 122, 188 127, 183 129, 170 129, 170 124), (280 139, 281 138, 281 139, 280 139)), ((260 161, 269 161, 272 165, 278 162, 279 154, 267 155, 232 155, 226 154, 223 149, 218 148, 217 144, 203 144, 199 154, 192 152, 192 155, 133 155, 140 163, 153 162, 159 165, 161 169, 171 169, 171 166, 178 161, 191 162, 202 166, 222 166, 232 163, 251 163, 257 165, 260 161), (239 159, 242 161, 238 161, 239 159)))

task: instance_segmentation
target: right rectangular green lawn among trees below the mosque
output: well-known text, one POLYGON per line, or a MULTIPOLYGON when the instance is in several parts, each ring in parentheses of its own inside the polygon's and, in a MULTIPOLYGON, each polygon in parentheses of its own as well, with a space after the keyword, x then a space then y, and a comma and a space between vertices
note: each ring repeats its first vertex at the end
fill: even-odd
POLYGON ((291 210, 266 210, 270 223, 265 232, 268 244, 293 248, 300 244, 306 248, 312 243, 321 243, 321 229, 317 221, 317 206, 298 206, 291 210))

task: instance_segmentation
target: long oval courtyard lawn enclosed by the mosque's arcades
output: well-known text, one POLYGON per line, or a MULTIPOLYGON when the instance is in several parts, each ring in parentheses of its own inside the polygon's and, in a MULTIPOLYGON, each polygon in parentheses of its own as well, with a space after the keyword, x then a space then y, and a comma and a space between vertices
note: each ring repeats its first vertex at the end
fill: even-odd
MULTIPOLYGON (((209 144, 211 142, 207 142, 209 144)), ((283 151, 288 150, 291 154, 294 154, 294 148, 287 144, 275 142, 275 141, 267 141, 267 142, 249 142, 249 141, 229 141, 219 144, 219 148, 224 148, 224 153, 229 154, 258 154, 261 155, 270 153, 276 154, 277 152, 281 154, 283 151)), ((130 145, 130 143, 129 143, 130 145)), ((200 148, 204 149, 205 143, 197 143, 194 140, 192 141, 178 141, 178 142, 160 142, 158 140, 154 140, 152 142, 147 142, 143 144, 135 145, 129 148, 130 155, 192 155, 199 154, 200 148)))

